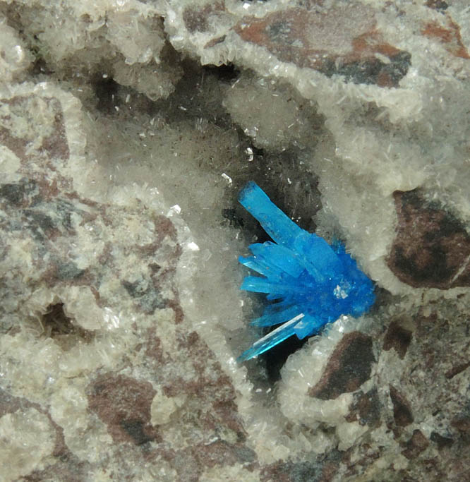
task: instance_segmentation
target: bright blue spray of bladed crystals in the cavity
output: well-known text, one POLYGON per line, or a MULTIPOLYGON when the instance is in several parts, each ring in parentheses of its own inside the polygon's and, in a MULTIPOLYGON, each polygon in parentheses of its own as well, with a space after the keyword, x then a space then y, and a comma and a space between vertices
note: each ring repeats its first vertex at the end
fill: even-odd
POLYGON ((239 201, 274 241, 249 246, 252 256, 242 265, 261 276, 247 276, 241 289, 266 293, 270 303, 252 325, 280 325, 239 356, 244 361, 275 347, 284 339, 315 335, 341 315, 360 316, 375 301, 373 283, 344 250, 301 229, 253 181, 239 201))

